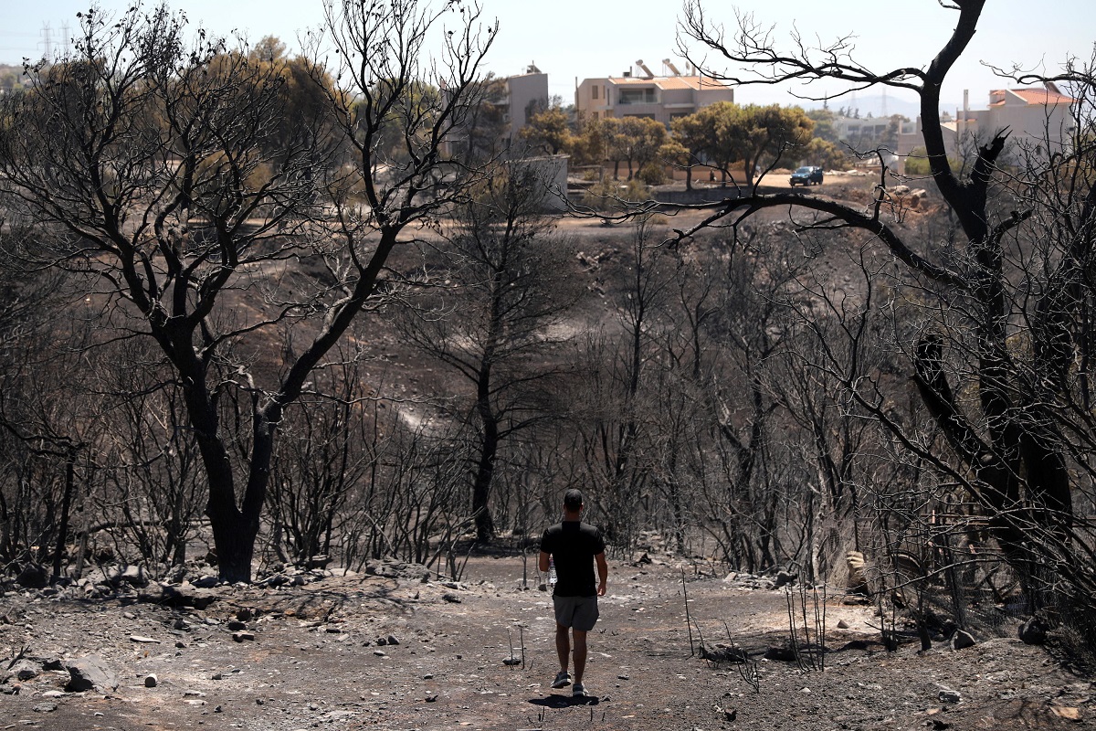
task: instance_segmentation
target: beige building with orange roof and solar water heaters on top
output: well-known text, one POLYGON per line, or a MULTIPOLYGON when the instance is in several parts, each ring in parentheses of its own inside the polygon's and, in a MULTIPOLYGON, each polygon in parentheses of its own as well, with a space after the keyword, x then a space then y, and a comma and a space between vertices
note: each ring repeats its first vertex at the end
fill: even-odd
POLYGON ((733 102, 734 90, 710 77, 682 76, 670 61, 663 61, 672 76, 654 76, 637 61, 638 75, 584 79, 574 92, 574 108, 586 119, 642 116, 669 125, 670 121, 693 114, 716 102, 733 102))

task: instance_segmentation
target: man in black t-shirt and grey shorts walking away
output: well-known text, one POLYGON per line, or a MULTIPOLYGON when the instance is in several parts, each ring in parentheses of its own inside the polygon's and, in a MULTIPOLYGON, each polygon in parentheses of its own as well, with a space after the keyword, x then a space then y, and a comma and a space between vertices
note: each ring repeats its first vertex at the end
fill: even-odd
POLYGON ((570 630, 574 638, 574 686, 571 694, 576 698, 586 695, 582 685, 582 674, 586 670, 586 632, 597 621, 597 597, 605 596, 605 581, 609 575, 602 532, 582 522, 582 492, 568 490, 563 495, 563 522, 545 530, 540 539, 539 561, 541 573, 547 573, 549 561, 555 561, 558 576, 551 598, 556 608, 559 675, 551 686, 563 688, 571 685, 571 676, 567 672, 571 655, 570 630))

